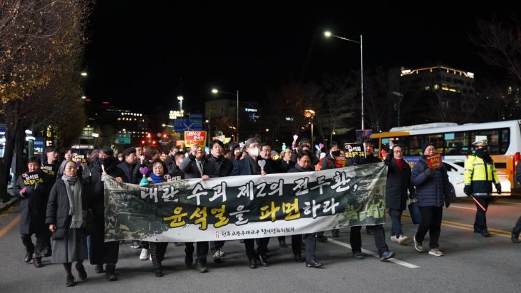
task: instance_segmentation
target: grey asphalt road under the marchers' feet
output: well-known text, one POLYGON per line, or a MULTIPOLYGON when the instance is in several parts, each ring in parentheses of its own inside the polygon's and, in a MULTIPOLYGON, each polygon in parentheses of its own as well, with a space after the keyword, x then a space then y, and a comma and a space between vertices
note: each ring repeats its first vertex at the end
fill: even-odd
MULTIPOLYGON (((23 262, 25 251, 16 220, 20 212, 14 207, 0 215, 0 292, 520 292, 521 244, 511 242, 510 231, 521 215, 521 200, 492 203, 487 213, 491 238, 473 234, 475 209, 471 201, 463 200, 443 210, 440 250, 444 257, 416 252, 412 241, 406 245, 391 242, 387 223, 387 245, 397 254, 393 262, 382 263, 371 256, 376 248, 373 236, 366 234, 362 234, 366 258, 354 259, 348 249, 348 229, 342 229, 339 238, 317 245, 323 269, 295 263, 291 248, 280 248, 272 238, 270 266, 249 269, 243 244, 229 241, 222 263, 214 264, 208 256, 208 273, 188 269, 184 245, 171 244, 163 262, 165 276, 156 278, 151 262, 139 260, 139 250, 124 243, 117 264, 119 280, 108 282, 87 264, 88 279, 65 287, 61 264, 43 259, 45 266, 36 269, 23 262)), ((417 226, 408 217, 403 223, 404 233, 412 237, 417 226)))

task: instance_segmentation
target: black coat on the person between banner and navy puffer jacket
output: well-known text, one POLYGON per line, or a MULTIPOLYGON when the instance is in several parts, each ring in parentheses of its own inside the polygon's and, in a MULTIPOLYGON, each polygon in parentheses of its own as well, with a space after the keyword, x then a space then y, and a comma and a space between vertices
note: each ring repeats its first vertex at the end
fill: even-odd
POLYGON ((385 185, 385 208, 405 210, 407 206, 407 190, 411 197, 415 196, 415 189, 411 183, 411 166, 404 162, 400 170, 396 159, 385 159, 387 165, 387 183, 385 185))

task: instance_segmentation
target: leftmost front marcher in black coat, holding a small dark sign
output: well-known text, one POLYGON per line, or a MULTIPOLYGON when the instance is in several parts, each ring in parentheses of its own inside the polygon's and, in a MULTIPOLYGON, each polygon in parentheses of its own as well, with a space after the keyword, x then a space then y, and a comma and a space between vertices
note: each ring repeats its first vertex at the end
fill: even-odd
POLYGON ((55 179, 40 169, 40 159, 29 158, 27 167, 29 172, 23 173, 16 180, 13 192, 20 198, 20 234, 26 249, 24 261, 29 263, 33 259, 34 266, 43 266, 41 258, 45 254, 45 247, 50 243, 50 233, 45 226, 45 212, 47 201, 55 179), (36 246, 31 241, 31 235, 36 234, 36 246))

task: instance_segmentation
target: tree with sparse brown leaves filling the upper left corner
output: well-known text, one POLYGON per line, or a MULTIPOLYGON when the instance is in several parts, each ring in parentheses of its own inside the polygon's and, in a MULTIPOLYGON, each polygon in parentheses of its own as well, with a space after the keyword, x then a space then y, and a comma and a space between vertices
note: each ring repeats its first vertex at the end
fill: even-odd
MULTIPOLYGON (((91 3, 83 0, 0 2, 0 99, 8 127, 5 160, 0 166, 0 197, 6 197, 6 173, 15 145, 21 154, 23 131, 37 114, 27 114, 26 102, 42 102, 45 97, 40 94, 55 87, 61 73, 76 69, 83 54, 90 8, 91 3)), ((59 96, 70 98, 65 92, 59 96)))

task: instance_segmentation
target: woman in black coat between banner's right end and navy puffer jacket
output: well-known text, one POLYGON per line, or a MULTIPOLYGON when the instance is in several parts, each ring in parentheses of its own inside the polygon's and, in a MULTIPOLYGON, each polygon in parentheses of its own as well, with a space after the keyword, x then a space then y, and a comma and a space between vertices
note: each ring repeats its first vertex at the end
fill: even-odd
POLYGON ((385 207, 389 209, 392 220, 391 241, 399 244, 409 240, 401 231, 401 213, 407 205, 407 190, 409 197, 415 196, 415 189, 411 183, 411 166, 404 160, 403 155, 401 147, 394 145, 384 160, 384 164, 387 165, 385 207))

